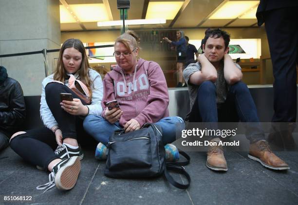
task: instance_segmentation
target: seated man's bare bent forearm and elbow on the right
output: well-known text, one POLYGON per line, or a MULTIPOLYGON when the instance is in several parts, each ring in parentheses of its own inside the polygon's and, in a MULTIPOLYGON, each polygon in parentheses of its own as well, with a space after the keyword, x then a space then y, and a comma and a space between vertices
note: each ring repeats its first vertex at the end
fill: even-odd
POLYGON ((242 79, 242 72, 235 63, 233 62, 230 55, 225 54, 224 55, 224 61, 223 61, 223 75, 225 81, 229 85, 233 85, 242 79))

